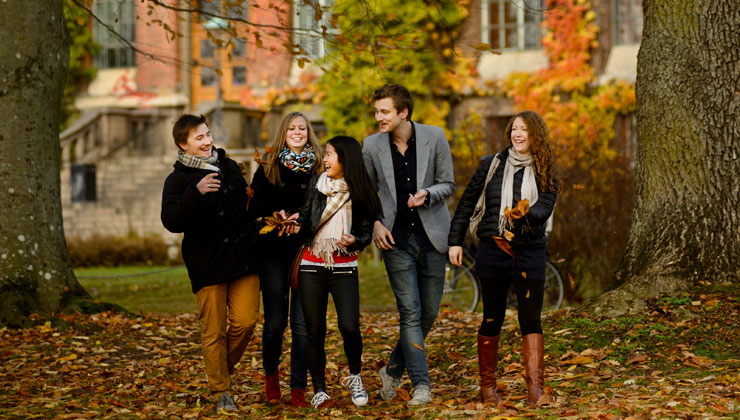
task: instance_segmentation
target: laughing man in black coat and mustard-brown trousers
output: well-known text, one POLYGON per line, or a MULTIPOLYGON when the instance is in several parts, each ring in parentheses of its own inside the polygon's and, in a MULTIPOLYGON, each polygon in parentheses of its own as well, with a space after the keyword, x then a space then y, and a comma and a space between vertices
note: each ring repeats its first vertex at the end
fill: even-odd
POLYGON ((213 147, 204 116, 181 116, 172 136, 178 156, 162 191, 162 223, 184 233, 182 256, 198 299, 203 358, 217 409, 236 411, 231 375, 259 318, 247 183, 239 165, 213 147))

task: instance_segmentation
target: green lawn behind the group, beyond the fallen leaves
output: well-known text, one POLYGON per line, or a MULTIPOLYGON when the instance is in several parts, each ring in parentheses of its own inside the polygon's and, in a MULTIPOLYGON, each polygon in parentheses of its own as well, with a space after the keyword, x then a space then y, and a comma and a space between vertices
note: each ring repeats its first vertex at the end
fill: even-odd
MULTIPOLYGON (((385 266, 360 262, 360 302, 364 311, 395 309, 385 266)), ((97 300, 116 303, 131 312, 196 312, 185 267, 102 267, 75 270, 80 284, 97 300)))

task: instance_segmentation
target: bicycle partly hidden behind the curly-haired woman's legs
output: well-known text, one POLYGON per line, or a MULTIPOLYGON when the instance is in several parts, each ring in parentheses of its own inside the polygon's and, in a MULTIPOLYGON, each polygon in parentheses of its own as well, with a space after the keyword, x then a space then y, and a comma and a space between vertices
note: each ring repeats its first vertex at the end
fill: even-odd
MULTIPOLYGON (((509 290, 508 302, 512 298, 513 288, 509 290)), ((475 273, 475 248, 470 241, 463 246, 461 267, 447 261, 445 267, 445 286, 442 295, 442 306, 460 311, 475 311, 480 301, 480 278, 475 273)), ((557 267, 550 261, 545 263, 545 297, 542 311, 555 311, 563 303, 563 279, 557 267)))

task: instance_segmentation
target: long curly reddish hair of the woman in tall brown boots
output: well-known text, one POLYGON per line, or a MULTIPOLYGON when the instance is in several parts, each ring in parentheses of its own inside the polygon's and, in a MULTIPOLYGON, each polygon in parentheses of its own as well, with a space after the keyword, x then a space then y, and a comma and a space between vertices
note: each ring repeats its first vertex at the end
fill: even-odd
POLYGON ((521 118, 527 126, 529 153, 532 154, 532 169, 537 178, 537 186, 540 191, 551 191, 555 188, 555 162, 550 149, 550 134, 547 131, 547 125, 534 111, 522 111, 514 115, 506 125, 504 133, 506 144, 509 146, 512 145, 511 127, 517 118, 521 118))

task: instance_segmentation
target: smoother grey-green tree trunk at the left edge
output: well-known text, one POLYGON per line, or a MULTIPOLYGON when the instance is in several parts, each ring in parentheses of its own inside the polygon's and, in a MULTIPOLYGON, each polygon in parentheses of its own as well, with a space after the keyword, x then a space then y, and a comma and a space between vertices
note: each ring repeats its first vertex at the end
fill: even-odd
POLYGON ((59 115, 68 50, 62 1, 0 3, 0 326, 85 296, 59 195, 59 115))

